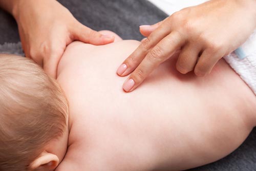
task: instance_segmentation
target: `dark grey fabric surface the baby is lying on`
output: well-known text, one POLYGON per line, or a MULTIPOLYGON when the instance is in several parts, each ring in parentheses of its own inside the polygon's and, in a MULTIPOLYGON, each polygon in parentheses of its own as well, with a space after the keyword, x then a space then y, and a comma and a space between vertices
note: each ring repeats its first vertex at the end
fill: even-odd
MULTIPOLYGON (((140 40, 138 28, 143 24, 153 24, 166 15, 145 0, 60 0, 84 25, 95 30, 112 30, 124 39, 140 40)), ((13 18, 0 11, 0 51, 20 54, 18 31, 13 18), (1 46, 2 45, 2 46, 1 46)), ((228 123, 227 123, 228 124, 228 123)), ((256 129, 246 141, 232 154, 215 163, 190 171, 252 171, 256 170, 256 129)))

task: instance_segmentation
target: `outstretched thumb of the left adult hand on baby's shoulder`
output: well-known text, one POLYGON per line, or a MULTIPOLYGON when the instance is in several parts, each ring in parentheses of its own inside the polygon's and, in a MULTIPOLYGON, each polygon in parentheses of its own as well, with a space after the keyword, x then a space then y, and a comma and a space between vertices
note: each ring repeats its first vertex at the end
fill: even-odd
POLYGON ((115 40, 114 36, 102 35, 99 32, 80 24, 79 22, 76 27, 73 27, 72 35, 74 40, 79 40, 93 45, 110 44, 115 40))

